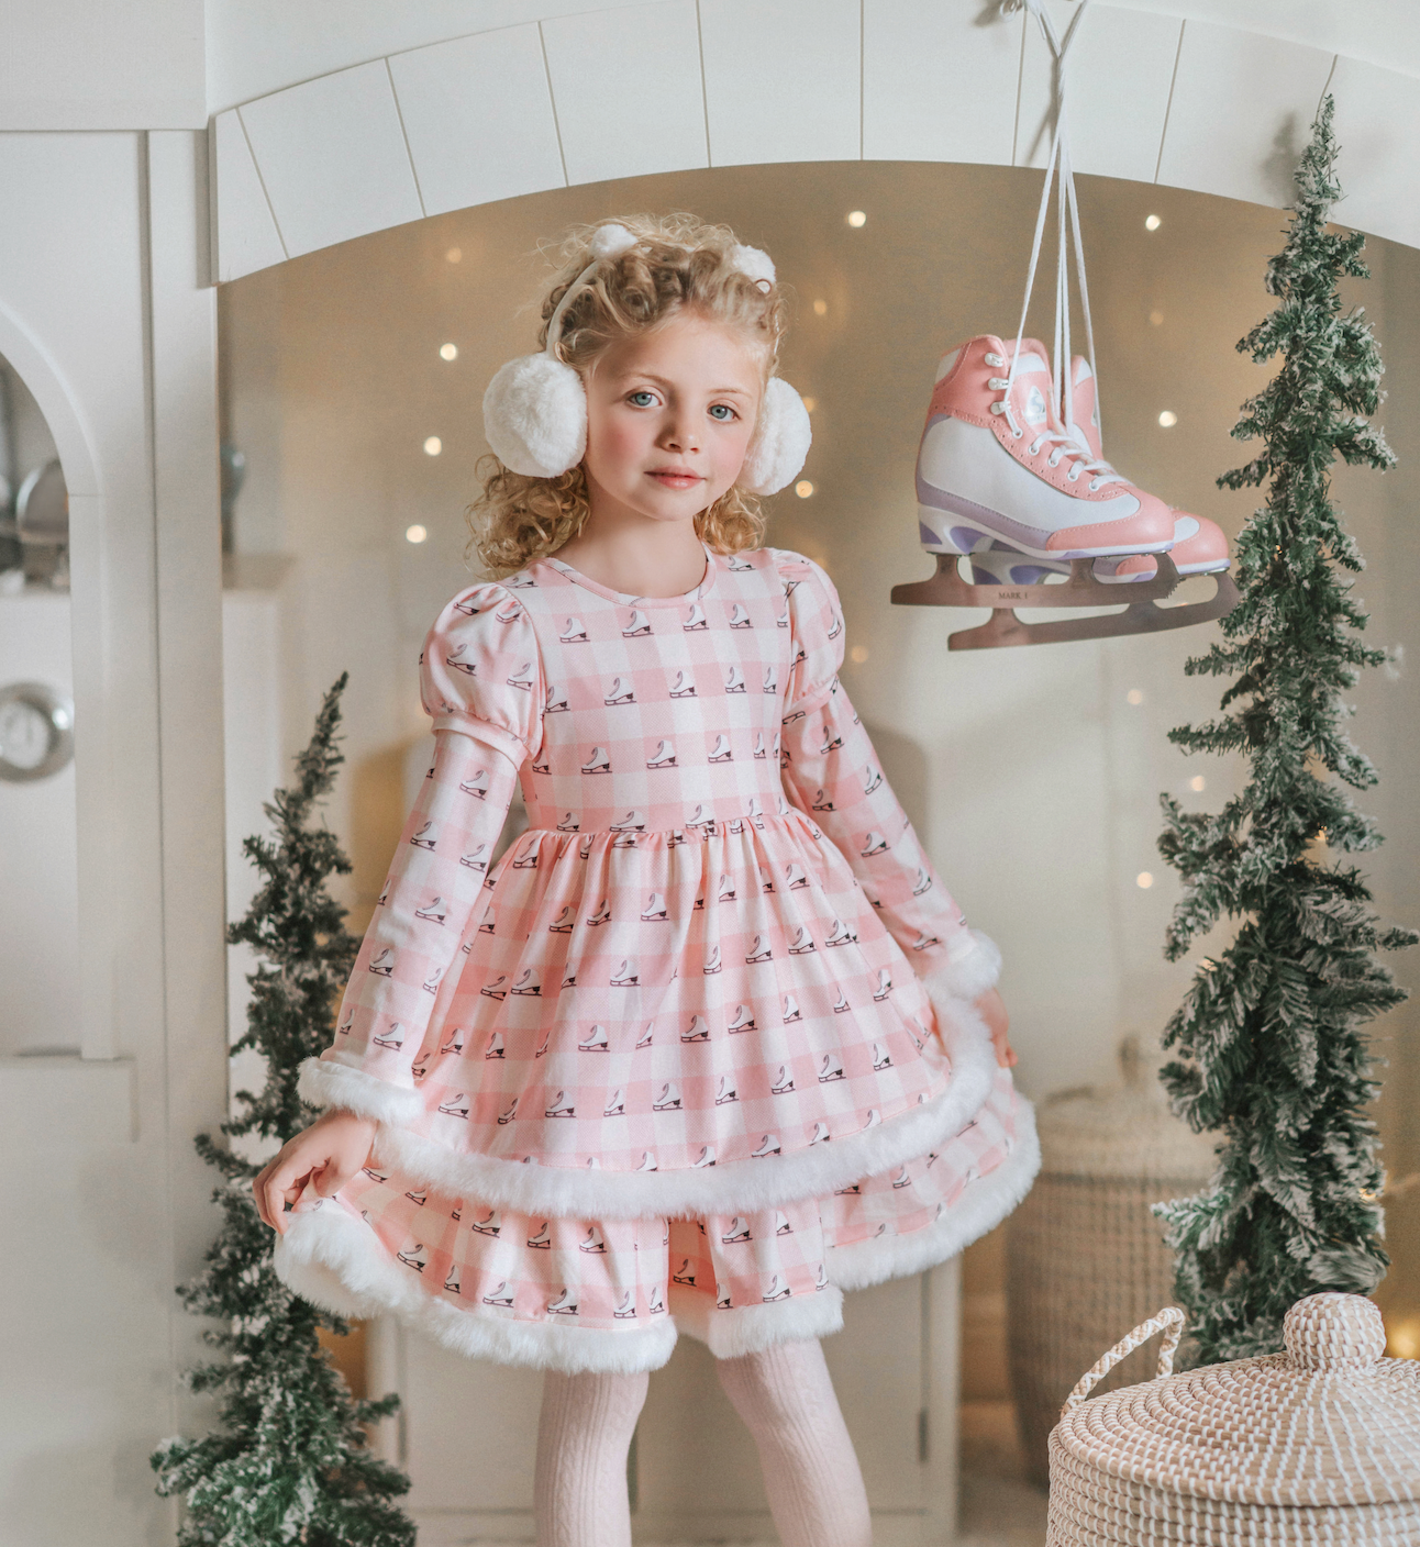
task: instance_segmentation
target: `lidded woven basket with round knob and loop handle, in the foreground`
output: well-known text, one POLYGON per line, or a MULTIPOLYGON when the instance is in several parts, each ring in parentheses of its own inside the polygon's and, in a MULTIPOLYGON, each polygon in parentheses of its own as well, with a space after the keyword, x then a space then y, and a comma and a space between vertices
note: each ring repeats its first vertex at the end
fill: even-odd
POLYGON ((1420 1547, 1420 1363, 1381 1358, 1369 1299, 1310 1295, 1285 1354, 1171 1375, 1182 1326, 1160 1312, 1070 1392, 1046 1547, 1420 1547), (1159 1378, 1086 1400, 1155 1332, 1159 1378))

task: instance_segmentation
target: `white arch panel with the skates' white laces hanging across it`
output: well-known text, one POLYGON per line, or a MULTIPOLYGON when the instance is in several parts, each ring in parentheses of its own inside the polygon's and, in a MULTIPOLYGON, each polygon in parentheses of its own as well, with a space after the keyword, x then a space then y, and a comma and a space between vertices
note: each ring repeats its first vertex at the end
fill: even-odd
MULTIPOLYGON (((1049 6, 1064 37, 1074 5, 1049 6)), ((1077 172, 1152 183, 1163 139, 1168 93, 1183 23, 1121 6, 1092 5, 1070 43, 1070 150, 1077 172)), ((1043 167, 1050 155, 1050 50, 1033 20, 1026 23, 1018 167, 1043 167)))

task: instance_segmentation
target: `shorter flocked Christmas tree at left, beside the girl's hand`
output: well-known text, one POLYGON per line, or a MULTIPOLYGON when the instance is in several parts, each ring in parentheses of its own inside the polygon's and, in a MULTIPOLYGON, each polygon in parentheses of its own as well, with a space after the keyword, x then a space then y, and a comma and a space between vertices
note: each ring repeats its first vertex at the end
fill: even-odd
MULTIPOLYGON (((232 1139, 285 1143, 314 1122, 316 1111, 295 1094, 297 1071, 329 1041, 359 948, 326 890, 350 860, 328 828, 311 826, 345 761, 336 749, 345 682, 342 676, 322 704, 311 744, 297 758, 297 783, 265 808, 275 838, 243 845, 263 885, 227 939, 266 961, 247 979, 249 1027, 232 1052, 260 1052, 266 1084, 258 1095, 238 1092, 243 1115, 223 1125, 232 1139)), ((203 1439, 167 1440, 153 1456, 158 1491, 187 1502, 181 1547, 410 1547, 415 1525, 391 1502, 408 1480, 371 1454, 365 1433, 398 1398, 351 1397, 317 1337, 320 1327, 340 1334, 345 1324, 299 1299, 272 1270, 275 1238, 251 1187, 260 1166, 206 1134, 196 1143, 226 1179, 217 1191, 226 1219, 206 1270, 181 1293, 190 1310, 224 1324, 206 1337, 227 1360, 189 1374, 193 1391, 221 1392, 223 1426, 203 1439)))

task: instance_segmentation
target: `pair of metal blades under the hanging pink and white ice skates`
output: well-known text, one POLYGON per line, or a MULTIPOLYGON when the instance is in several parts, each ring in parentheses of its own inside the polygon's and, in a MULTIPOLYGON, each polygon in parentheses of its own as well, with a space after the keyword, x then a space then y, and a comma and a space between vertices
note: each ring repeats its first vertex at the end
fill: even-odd
POLYGON ((1177 589, 1182 575, 1168 554, 1151 554, 1157 565, 1152 580, 1104 585, 1094 575, 1094 558, 1072 558, 1070 577, 1060 585, 967 585, 957 569, 959 555, 937 554, 937 572, 930 580, 894 585, 899 606, 988 606, 992 617, 976 628, 948 634, 948 650, 1001 650, 1007 645, 1058 645, 1072 639, 1111 639, 1115 634, 1155 634, 1165 628, 1188 628, 1222 617, 1237 605, 1237 586, 1227 569, 1216 571, 1217 591, 1207 602, 1185 606, 1157 603, 1177 589), (1126 591, 1128 596, 1120 593, 1126 591), (1061 617, 1050 623, 1027 623, 1018 606, 1118 606, 1104 617, 1061 617))

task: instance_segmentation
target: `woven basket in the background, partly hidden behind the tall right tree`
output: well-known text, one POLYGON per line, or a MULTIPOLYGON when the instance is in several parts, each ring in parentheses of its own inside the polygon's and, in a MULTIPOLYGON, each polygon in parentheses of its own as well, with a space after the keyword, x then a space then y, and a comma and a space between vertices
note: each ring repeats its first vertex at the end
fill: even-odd
MULTIPOLYGON (((1120 1049, 1121 1084, 1041 1105, 1041 1173, 1005 1231, 1010 1386, 1030 1476, 1044 1487, 1046 1439, 1100 1349, 1173 1299, 1174 1258, 1149 1205, 1196 1193, 1213 1140, 1168 1109, 1155 1061, 1120 1049)), ((1148 1354, 1104 1389, 1148 1380, 1148 1354)))

